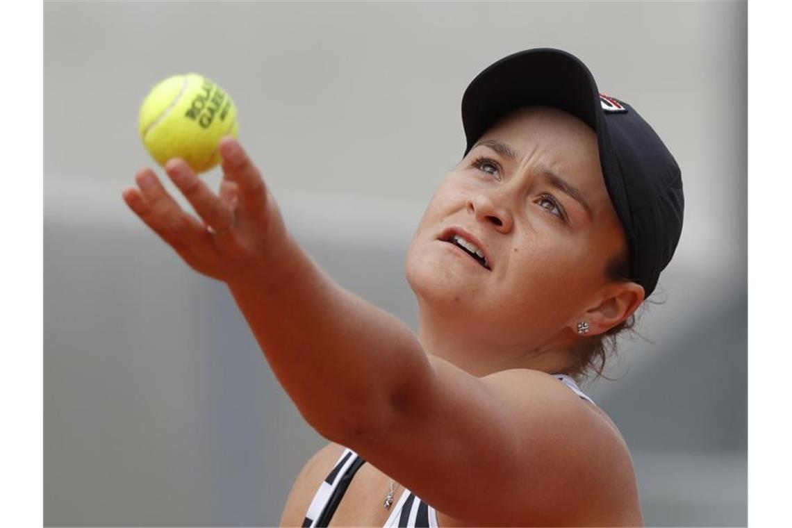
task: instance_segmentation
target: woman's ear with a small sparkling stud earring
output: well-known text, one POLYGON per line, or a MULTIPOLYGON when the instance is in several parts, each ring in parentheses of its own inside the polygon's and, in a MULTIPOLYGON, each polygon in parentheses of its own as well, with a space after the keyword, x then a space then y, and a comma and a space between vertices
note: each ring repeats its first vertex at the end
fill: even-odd
POLYGON ((576 334, 577 325, 581 321, 588 323, 588 335, 607 332, 630 317, 644 299, 644 289, 633 282, 609 283, 600 292, 600 296, 592 306, 578 314, 572 321, 571 328, 576 334))

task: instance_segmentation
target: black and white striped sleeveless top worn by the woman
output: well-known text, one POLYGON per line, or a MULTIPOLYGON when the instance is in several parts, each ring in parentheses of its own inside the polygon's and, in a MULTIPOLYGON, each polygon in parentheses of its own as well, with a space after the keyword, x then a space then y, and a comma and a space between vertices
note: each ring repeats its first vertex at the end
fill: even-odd
MULTIPOLYGON (((594 401, 586 396, 581 389, 578 388, 577 383, 573 378, 566 374, 553 374, 554 378, 558 378, 565 386, 572 389, 579 397, 584 400, 594 401)), ((341 497, 344 496, 349 482, 352 477, 360 469, 361 465, 366 462, 355 451, 346 448, 341 456, 338 458, 336 465, 333 466, 333 471, 322 481, 319 488, 314 495, 314 500, 310 501, 310 506, 303 520, 303 528, 310 526, 327 526, 330 519, 341 502, 341 497)), ((428 503, 425 503, 419 497, 415 496, 409 489, 402 492, 402 496, 398 501, 394 502, 390 510, 390 516, 385 522, 383 528, 396 528, 398 527, 412 527, 424 526, 426 528, 438 528, 437 512, 428 503)))

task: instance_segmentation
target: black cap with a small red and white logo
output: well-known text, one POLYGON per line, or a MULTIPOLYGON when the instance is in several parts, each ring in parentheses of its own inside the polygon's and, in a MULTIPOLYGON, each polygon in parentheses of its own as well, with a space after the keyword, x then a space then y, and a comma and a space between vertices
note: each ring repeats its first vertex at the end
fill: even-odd
POLYGON ((568 112, 596 132, 605 187, 630 249, 630 279, 649 297, 682 233, 679 165, 634 108, 600 93, 580 59, 550 48, 508 55, 470 82, 462 98, 465 155, 497 120, 531 105, 568 112))

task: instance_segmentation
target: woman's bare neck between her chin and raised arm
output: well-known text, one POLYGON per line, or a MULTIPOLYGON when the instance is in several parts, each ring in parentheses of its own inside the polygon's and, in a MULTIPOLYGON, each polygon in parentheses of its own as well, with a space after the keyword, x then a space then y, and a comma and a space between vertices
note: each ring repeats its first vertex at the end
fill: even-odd
POLYGON ((454 363, 478 378, 514 368, 556 374, 573 364, 572 352, 559 344, 561 334, 543 345, 509 343, 501 336, 482 335, 472 325, 424 311, 418 321, 418 340, 427 354, 454 363))

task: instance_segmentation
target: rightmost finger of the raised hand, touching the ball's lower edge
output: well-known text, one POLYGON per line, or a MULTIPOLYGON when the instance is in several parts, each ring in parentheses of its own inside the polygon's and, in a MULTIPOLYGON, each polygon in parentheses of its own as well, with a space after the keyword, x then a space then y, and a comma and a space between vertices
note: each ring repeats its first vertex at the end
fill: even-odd
POLYGON ((264 211, 267 196, 264 178, 242 145, 234 137, 226 136, 220 140, 219 149, 223 158, 224 178, 237 184, 239 207, 251 216, 264 211))

